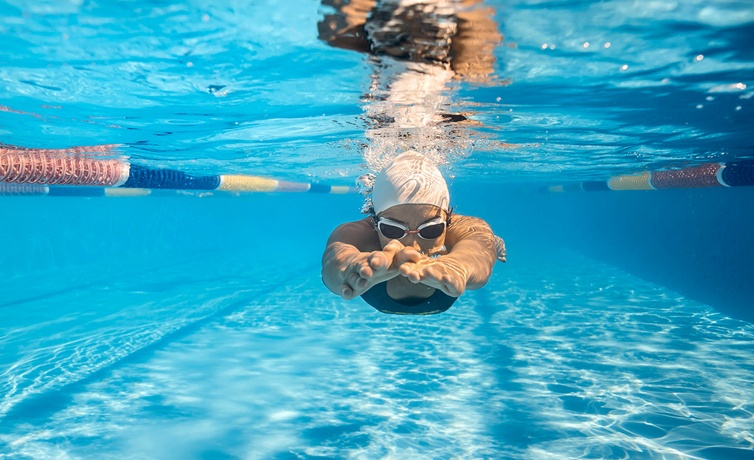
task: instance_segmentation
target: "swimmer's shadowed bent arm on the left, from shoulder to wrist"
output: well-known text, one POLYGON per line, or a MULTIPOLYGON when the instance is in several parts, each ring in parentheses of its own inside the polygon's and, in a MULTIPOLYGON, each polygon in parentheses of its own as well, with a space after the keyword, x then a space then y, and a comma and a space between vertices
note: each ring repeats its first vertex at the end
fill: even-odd
POLYGON ((364 257, 364 253, 379 249, 380 242, 372 227, 371 218, 338 226, 328 238, 322 255, 322 282, 327 289, 339 296, 352 298, 360 295, 361 292, 347 295, 343 293, 344 285, 349 284, 348 268, 356 259, 364 257))

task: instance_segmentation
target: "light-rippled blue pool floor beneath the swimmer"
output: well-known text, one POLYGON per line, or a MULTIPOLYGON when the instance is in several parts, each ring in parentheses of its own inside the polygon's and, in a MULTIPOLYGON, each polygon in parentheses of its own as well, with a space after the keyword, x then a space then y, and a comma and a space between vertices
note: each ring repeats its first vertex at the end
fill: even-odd
POLYGON ((754 326, 577 253, 429 317, 215 256, 5 292, 0 458, 752 458, 754 326))

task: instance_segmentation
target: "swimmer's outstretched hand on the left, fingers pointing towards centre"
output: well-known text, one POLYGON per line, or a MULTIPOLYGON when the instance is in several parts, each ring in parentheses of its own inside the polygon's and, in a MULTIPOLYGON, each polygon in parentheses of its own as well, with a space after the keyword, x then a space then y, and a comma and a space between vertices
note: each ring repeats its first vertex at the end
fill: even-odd
POLYGON ((372 286, 398 276, 403 264, 419 262, 422 257, 418 251, 406 248, 398 240, 385 245, 382 251, 355 254, 341 269, 340 296, 345 300, 356 298, 372 286))

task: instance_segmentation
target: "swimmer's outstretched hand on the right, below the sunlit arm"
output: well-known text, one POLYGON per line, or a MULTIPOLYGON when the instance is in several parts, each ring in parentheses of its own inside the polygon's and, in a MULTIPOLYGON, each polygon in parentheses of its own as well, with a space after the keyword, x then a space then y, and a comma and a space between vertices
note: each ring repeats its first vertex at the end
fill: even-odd
POLYGON ((469 275, 462 264, 449 257, 420 257, 418 261, 402 264, 399 267, 400 274, 412 283, 421 283, 439 289, 451 297, 463 294, 469 275))

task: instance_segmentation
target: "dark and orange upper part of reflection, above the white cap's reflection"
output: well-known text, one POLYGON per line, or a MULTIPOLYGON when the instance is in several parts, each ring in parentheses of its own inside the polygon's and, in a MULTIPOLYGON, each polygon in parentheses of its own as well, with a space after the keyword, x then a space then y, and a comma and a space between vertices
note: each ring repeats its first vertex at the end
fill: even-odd
POLYGON ((502 41, 495 10, 479 0, 323 0, 319 22, 331 46, 431 64, 454 78, 488 82, 502 41))

